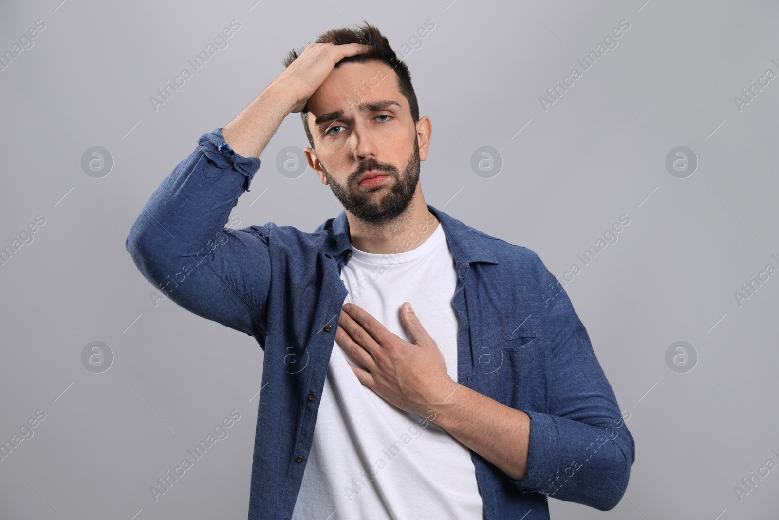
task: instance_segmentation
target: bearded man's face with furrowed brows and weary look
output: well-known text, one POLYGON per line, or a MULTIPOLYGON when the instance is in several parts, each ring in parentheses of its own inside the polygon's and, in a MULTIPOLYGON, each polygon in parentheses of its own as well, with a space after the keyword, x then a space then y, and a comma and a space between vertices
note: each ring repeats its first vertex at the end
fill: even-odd
POLYGON ((429 119, 414 125, 389 66, 344 63, 333 69, 308 100, 308 128, 316 147, 305 149, 308 164, 347 211, 383 223, 406 210, 419 189, 420 161, 427 158, 429 119), (370 173, 386 177, 361 182, 370 173))

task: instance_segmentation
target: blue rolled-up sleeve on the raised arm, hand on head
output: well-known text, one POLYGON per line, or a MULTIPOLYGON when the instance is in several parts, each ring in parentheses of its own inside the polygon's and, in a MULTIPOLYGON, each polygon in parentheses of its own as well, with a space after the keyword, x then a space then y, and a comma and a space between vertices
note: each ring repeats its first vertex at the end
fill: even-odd
POLYGON ((259 164, 236 154, 220 128, 204 133, 150 196, 125 248, 163 295, 264 348, 273 223, 225 227, 259 164))

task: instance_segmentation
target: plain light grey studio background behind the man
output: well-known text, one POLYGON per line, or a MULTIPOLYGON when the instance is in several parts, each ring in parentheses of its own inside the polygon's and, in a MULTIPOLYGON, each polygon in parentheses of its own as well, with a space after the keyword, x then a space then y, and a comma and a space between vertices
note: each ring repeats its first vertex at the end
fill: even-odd
MULTIPOLYGON (((375 23, 405 57, 422 115, 428 203, 533 249, 562 277, 620 215, 629 225, 566 285, 636 439, 629 488, 612 511, 550 500, 552 518, 776 518, 779 471, 742 501, 734 491, 779 451, 777 94, 770 81, 738 111, 733 97, 779 73, 775 2, 3 2, 0 51, 37 19, 46 28, 0 72, 0 246, 46 219, 0 267, 0 440, 46 418, 0 462, 2 518, 246 518, 263 353, 245 334, 155 302, 125 251, 153 190, 324 30, 375 23), (149 98, 232 19, 241 24, 154 111, 149 98), (538 98, 620 20, 616 48, 546 111, 538 98), (521 129, 521 132, 520 132, 521 129), (106 148, 94 179, 81 157, 106 148), (471 154, 494 147, 490 179, 471 154), (665 168, 686 146, 696 172, 665 168), (85 345, 114 359, 86 370, 85 345), (694 370, 666 364, 675 341, 694 370), (153 501, 150 486, 233 409, 206 457, 153 501)), ((287 117, 260 157, 238 227, 312 232, 341 207, 308 169, 276 168, 307 142, 287 117), (258 196, 259 199, 257 198, 258 196)))

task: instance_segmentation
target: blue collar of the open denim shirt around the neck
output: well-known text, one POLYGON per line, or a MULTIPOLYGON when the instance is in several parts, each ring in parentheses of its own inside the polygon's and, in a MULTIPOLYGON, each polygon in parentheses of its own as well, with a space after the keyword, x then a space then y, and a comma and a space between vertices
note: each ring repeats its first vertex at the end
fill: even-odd
MULTIPOLYGON (((450 217, 430 204, 427 204, 427 207, 441 222, 446 240, 449 242, 449 248, 452 250, 452 255, 458 266, 473 262, 498 264, 498 259, 484 245, 481 232, 456 218, 450 217)), ((335 218, 327 219, 316 230, 316 232, 322 231, 330 231, 333 234, 333 240, 326 245, 326 253, 347 261, 351 254, 351 242, 349 242, 349 221, 346 218, 346 210, 341 210, 335 218)))

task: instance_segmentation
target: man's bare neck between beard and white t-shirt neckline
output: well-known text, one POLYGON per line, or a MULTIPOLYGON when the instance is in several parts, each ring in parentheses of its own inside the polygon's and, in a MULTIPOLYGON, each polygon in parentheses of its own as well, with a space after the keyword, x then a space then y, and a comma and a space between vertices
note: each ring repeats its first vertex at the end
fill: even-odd
POLYGON ((346 212, 349 221, 349 239, 352 245, 365 253, 388 255, 411 251, 425 242, 438 228, 439 220, 428 210, 420 186, 411 203, 395 220, 375 224, 356 218, 346 212))

